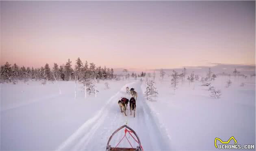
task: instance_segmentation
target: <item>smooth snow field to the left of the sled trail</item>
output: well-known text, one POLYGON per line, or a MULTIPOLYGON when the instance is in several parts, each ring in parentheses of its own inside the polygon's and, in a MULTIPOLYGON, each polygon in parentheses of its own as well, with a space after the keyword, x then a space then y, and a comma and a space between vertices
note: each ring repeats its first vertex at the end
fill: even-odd
POLYGON ((93 117, 106 101, 126 81, 108 81, 111 89, 100 82, 98 98, 84 98, 77 86, 74 99, 74 82, 30 81, 17 85, 1 84, 1 149, 2 150, 54 150, 72 135, 85 121, 93 117))

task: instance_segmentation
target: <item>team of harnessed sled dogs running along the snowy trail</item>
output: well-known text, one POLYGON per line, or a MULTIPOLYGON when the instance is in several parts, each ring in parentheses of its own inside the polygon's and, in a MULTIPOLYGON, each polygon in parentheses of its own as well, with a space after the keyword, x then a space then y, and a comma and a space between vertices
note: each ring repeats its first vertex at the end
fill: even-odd
POLYGON ((122 98, 118 101, 118 105, 121 109, 121 113, 124 113, 126 115, 126 109, 128 102, 130 102, 130 115, 132 115, 132 111, 134 112, 133 117, 135 117, 135 111, 136 111, 136 100, 138 98, 137 92, 134 90, 134 88, 129 89, 129 87, 126 87, 126 93, 131 94, 132 98, 130 98, 130 101, 127 98, 122 98))

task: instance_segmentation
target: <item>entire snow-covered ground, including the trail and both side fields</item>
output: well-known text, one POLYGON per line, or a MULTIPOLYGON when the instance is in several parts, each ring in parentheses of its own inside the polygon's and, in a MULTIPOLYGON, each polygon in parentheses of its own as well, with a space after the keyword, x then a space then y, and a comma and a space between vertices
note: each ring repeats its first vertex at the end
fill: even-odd
MULTIPOLYGON (((145 151, 215 150, 216 137, 224 141, 231 136, 238 144, 255 144, 255 80, 231 79, 231 87, 226 88, 227 79, 212 82, 222 91, 219 99, 211 98, 199 81, 190 86, 180 81, 174 94, 170 78, 163 83, 156 80, 155 102, 143 97, 145 82, 131 79, 127 85, 108 81, 111 89, 104 89, 105 81, 100 81, 97 98, 86 99, 81 85, 74 98, 74 81, 59 82, 62 94, 51 82, 1 84, 1 150, 105 150, 109 136, 126 121, 145 151), (239 86, 242 81, 244 87, 239 86), (135 118, 129 110, 125 117, 117 105, 121 97, 130 98, 126 86, 139 94, 135 118)), ((119 132, 111 145, 123 135, 119 132)))

